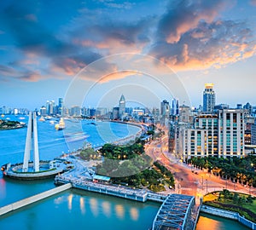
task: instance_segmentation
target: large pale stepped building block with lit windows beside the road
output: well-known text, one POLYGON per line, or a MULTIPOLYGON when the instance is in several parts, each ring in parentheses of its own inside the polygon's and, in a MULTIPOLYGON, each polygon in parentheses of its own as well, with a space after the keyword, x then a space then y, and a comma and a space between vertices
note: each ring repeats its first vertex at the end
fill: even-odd
POLYGON ((182 147, 177 152, 183 160, 193 157, 244 157, 244 110, 222 109, 218 114, 195 118, 193 128, 181 129, 182 147))

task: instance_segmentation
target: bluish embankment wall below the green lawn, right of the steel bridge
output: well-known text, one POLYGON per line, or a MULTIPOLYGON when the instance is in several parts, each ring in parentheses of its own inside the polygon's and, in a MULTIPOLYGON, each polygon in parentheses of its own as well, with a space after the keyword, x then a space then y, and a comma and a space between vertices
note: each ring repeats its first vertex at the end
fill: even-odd
POLYGON ((200 211, 205 212, 210 215, 213 215, 213 216, 220 216, 220 217, 236 220, 251 229, 256 229, 256 223, 254 223, 253 221, 248 221, 246 218, 244 218, 243 216, 240 216, 239 213, 234 212, 234 211, 221 210, 221 209, 214 208, 214 207, 207 206, 207 205, 201 205, 200 211))

